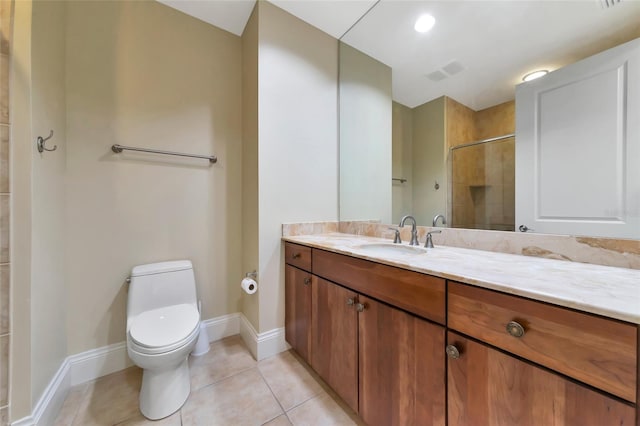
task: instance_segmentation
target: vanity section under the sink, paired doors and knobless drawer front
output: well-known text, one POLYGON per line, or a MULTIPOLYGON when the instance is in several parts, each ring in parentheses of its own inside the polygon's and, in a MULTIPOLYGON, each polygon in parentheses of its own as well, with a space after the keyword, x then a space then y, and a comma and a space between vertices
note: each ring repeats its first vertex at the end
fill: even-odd
POLYGON ((368 425, 444 425, 444 327, 364 294, 408 305, 435 295, 429 315, 444 320, 444 280, 315 249, 312 259, 313 369, 368 425))

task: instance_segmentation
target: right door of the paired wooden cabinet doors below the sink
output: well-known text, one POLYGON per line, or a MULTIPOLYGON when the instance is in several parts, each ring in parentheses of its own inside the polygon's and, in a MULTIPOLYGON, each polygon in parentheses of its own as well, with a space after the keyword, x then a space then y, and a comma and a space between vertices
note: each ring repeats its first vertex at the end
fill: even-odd
POLYGON ((444 327, 358 296, 360 416, 368 425, 444 425, 444 327))

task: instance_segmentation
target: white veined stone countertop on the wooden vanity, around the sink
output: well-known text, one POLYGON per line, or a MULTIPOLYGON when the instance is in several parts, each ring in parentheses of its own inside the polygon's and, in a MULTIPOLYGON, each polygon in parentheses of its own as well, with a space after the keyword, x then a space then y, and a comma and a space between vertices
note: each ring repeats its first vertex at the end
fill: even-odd
POLYGON ((391 240, 341 233, 282 239, 640 324, 640 270, 447 246, 381 257, 359 246, 391 240))

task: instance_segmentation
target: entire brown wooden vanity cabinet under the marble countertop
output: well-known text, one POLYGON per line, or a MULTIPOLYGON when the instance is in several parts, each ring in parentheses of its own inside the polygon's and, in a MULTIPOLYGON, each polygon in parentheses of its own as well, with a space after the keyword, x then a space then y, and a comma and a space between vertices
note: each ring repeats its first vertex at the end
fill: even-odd
POLYGON ((295 246, 287 341, 368 425, 640 426, 637 325, 295 246))

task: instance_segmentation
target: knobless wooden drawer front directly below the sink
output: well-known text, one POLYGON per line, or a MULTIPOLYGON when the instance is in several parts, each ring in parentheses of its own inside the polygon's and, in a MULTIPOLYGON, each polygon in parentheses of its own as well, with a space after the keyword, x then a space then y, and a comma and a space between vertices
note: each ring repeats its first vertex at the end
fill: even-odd
POLYGON ((312 257, 314 275, 444 325, 444 279, 324 250, 312 257))

